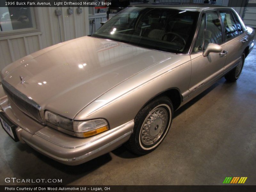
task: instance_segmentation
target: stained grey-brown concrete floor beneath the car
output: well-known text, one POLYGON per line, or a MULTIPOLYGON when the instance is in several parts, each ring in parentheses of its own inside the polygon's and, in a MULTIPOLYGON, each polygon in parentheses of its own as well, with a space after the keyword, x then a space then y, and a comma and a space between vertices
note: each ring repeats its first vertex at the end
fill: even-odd
POLYGON ((78 166, 57 163, 0 129, 0 185, 5 177, 62 179, 62 185, 221 185, 248 177, 256 185, 256 49, 236 83, 224 78, 175 113, 152 153, 124 147, 78 166))

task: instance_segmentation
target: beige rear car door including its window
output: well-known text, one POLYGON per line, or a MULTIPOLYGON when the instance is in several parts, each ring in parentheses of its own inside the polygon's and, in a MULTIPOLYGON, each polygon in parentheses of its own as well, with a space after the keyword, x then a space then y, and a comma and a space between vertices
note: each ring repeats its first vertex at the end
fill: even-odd
POLYGON ((238 18, 235 14, 232 14, 231 10, 221 10, 220 17, 224 29, 225 45, 228 52, 224 66, 226 73, 240 61, 240 56, 246 47, 245 42, 248 40, 238 18))

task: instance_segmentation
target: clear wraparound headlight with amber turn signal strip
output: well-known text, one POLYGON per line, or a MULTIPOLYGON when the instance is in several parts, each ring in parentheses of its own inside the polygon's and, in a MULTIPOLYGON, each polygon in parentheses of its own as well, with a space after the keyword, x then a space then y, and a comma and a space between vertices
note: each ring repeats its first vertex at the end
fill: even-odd
MULTIPOLYGON (((45 120, 50 124, 72 131, 76 137, 90 137, 108 130, 108 122, 105 119, 93 119, 88 121, 73 121, 58 114, 46 111, 45 120)), ((58 129, 61 131, 61 129, 58 129)))

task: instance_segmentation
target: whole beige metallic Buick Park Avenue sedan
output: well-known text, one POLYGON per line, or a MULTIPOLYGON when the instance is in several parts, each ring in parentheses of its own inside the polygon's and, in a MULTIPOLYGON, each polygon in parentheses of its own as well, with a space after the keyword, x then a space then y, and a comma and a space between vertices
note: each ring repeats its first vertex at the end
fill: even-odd
POLYGON ((163 141, 176 109, 223 76, 239 78, 253 37, 227 7, 128 7, 91 36, 5 67, 2 127, 63 164, 124 143, 147 154, 163 141))

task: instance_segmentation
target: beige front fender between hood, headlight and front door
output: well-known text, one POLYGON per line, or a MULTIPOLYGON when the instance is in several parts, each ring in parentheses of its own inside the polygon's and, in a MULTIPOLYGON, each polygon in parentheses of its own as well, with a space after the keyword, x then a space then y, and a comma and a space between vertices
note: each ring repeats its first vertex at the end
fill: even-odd
POLYGON ((176 55, 142 71, 109 90, 81 110, 75 120, 105 118, 110 129, 134 119, 151 98, 171 87, 188 90, 191 76, 189 55, 176 55))

